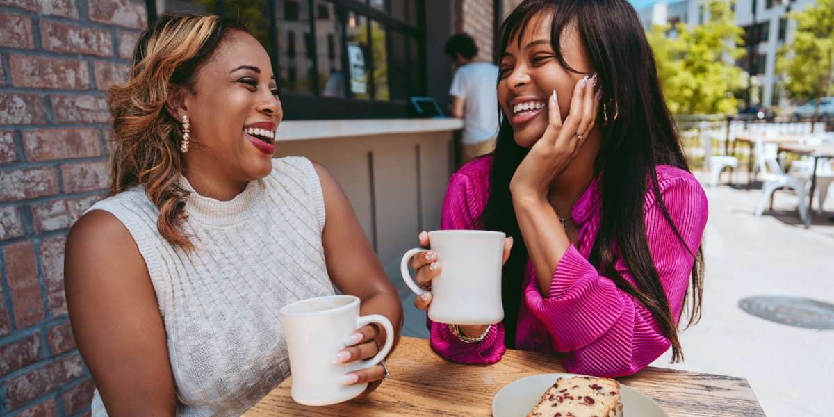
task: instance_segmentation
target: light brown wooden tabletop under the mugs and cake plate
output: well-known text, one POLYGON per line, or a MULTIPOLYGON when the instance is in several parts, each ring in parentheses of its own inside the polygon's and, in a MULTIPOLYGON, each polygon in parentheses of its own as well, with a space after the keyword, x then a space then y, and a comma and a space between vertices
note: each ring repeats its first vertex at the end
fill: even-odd
MULTIPOLYGON (((426 339, 404 337, 385 362, 391 376, 364 399, 329 407, 296 404, 289 379, 246 417, 491 415, 492 398, 505 384, 533 374, 565 372, 560 359, 509 350, 498 364, 452 364, 426 339)), ((655 399, 671 417, 764 416, 746 379, 676 369, 646 368, 620 382, 655 399)))

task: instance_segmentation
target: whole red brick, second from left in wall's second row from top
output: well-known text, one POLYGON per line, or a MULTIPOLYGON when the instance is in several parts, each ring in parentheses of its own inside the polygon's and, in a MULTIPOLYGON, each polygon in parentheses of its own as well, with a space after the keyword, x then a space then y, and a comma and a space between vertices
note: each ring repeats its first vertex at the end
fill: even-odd
POLYGON ((87 53, 99 57, 113 56, 110 33, 84 28, 73 23, 41 21, 41 47, 58 53, 87 53))

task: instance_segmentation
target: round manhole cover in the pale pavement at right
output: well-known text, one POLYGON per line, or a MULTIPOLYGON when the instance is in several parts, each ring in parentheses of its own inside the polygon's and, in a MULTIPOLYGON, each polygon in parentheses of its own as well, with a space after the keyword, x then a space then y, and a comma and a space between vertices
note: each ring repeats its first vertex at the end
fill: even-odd
POLYGON ((806 329, 834 330, 834 304, 761 295, 741 299, 738 306, 747 313, 772 322, 806 329))

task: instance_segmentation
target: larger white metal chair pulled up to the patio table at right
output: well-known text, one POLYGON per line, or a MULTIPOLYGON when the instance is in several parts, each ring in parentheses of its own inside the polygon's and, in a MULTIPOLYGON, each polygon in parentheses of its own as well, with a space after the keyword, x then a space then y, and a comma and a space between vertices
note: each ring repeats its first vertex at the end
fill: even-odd
POLYGON ((761 187, 761 201, 759 207, 756 208, 756 217, 761 217, 765 213, 768 203, 771 201, 773 193, 779 188, 792 188, 796 191, 796 208, 799 210, 799 218, 803 224, 807 224, 808 208, 806 205, 806 195, 808 187, 808 178, 795 177, 782 171, 776 157, 779 153, 779 145, 776 143, 765 143, 762 140, 756 140, 755 146, 756 164, 761 173, 761 179, 764 184, 761 187))

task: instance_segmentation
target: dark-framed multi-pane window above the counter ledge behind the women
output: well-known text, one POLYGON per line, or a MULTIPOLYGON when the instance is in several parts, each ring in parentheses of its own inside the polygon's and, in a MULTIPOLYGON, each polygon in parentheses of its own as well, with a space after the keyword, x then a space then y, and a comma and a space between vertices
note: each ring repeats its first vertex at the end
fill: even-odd
POLYGON ((289 120, 407 117, 409 98, 426 92, 425 1, 146 3, 170 3, 158 13, 214 13, 248 23, 272 59, 289 120))

